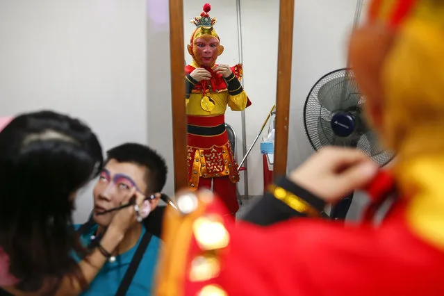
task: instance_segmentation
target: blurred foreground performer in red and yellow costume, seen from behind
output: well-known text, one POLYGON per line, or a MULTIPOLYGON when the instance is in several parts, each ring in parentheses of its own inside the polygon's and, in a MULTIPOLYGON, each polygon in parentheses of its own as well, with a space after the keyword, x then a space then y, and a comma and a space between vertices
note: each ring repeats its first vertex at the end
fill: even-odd
POLYGON ((443 1, 372 1, 349 55, 365 112, 397 153, 393 167, 378 172, 356 150, 323 149, 261 201, 314 218, 274 217, 268 227, 235 223, 211 192, 179 195, 181 211, 165 214, 156 295, 444 295, 443 53, 443 1), (362 186, 372 200, 363 222, 316 218, 362 186))

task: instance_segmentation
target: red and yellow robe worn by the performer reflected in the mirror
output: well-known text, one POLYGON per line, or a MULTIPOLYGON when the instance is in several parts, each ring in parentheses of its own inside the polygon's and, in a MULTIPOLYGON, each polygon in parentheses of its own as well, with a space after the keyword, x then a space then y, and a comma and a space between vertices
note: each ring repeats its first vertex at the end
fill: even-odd
POLYGON ((218 176, 229 176, 231 182, 236 183, 239 181, 238 165, 225 130, 224 114, 227 106, 231 110, 241 111, 251 105, 239 82, 242 79, 242 65, 231 67, 233 74, 227 79, 207 69, 213 74, 212 79, 199 83, 190 76, 196 67, 195 63, 185 67, 188 186, 197 188, 199 178, 218 176), (213 110, 202 108, 204 95, 213 100, 213 110))

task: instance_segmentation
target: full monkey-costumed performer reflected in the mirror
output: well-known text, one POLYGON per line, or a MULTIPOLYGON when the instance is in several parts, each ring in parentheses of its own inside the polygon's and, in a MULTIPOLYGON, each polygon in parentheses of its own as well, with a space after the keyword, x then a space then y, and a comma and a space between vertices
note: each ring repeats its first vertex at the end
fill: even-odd
POLYGON ((227 106, 233 111, 251 105, 240 85, 242 65, 217 65, 224 51, 213 25, 215 17, 204 12, 192 19, 197 27, 191 35, 188 53, 191 65, 186 65, 186 114, 188 117, 188 186, 211 188, 222 197, 230 213, 238 211, 236 183, 238 165, 225 129, 227 106))

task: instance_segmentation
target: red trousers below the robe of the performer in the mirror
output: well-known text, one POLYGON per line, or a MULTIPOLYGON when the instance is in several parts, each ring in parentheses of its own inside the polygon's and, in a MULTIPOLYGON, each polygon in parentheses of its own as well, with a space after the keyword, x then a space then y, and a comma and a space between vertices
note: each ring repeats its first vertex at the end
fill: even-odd
POLYGON ((236 183, 231 182, 229 176, 218 176, 217 178, 200 177, 198 188, 211 189, 211 181, 213 181, 213 192, 222 199, 232 215, 236 214, 239 209, 236 183))

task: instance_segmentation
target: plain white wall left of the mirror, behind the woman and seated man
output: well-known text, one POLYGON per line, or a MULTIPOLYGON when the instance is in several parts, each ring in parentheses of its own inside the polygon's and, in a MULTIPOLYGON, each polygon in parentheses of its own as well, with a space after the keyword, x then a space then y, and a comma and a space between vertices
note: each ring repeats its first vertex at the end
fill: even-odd
MULTIPOLYGON (((161 124, 163 134, 171 134, 167 1, 148 5, 147 35, 144 0, 0 1, 0 115, 41 108, 69 113, 92 126, 104 149, 148 140, 165 147, 172 170, 172 137, 158 137, 161 124), (148 49, 147 37, 160 42, 148 49), (166 57, 147 70, 147 52, 148 62, 157 54, 166 57), (147 87, 154 83, 149 109, 147 87), (148 123, 157 129, 148 130, 148 123)), ((171 194, 172 173, 168 182, 171 194)), ((77 202, 76 222, 91 208, 87 188, 77 202)))

